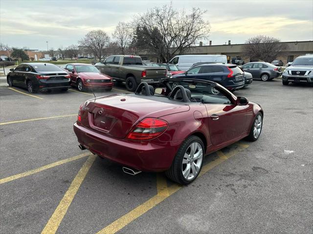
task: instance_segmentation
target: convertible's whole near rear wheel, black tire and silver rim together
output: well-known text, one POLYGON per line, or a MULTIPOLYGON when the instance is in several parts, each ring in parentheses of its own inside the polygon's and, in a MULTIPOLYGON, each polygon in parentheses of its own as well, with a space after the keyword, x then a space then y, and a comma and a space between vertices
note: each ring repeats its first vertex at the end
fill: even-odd
POLYGON ((188 137, 179 147, 166 176, 179 184, 190 184, 202 169, 204 145, 197 136, 188 137))

